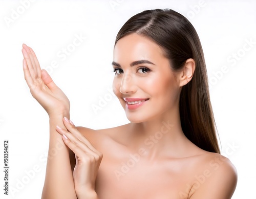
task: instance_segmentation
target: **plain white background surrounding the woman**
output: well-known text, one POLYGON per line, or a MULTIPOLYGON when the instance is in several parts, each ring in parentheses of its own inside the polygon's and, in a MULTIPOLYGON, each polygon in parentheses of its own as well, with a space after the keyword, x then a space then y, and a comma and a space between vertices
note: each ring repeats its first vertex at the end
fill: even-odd
POLYGON ((48 115, 24 80, 22 43, 34 49, 42 68, 69 97, 75 125, 117 126, 128 121, 111 92, 115 36, 131 16, 154 8, 178 11, 195 26, 205 53, 222 153, 238 170, 232 198, 256 198, 256 1, 28 2, 0 1, 0 160, 4 140, 9 140, 10 165, 10 195, 3 197, 2 172, 1 198, 40 198, 45 177, 48 115), (77 35, 83 39, 72 48, 77 35), (72 52, 64 58, 62 48, 67 47, 72 52), (51 66, 54 62, 57 68, 51 66), (102 106, 104 98, 108 101, 102 106), (93 105, 102 108, 95 111, 93 105))

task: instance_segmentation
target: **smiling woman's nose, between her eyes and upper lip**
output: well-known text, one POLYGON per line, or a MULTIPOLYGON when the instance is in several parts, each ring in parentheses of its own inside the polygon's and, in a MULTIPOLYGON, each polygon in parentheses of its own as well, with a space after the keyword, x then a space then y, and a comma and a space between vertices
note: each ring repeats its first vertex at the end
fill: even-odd
POLYGON ((136 92, 136 85, 131 74, 123 74, 119 91, 122 94, 136 92))

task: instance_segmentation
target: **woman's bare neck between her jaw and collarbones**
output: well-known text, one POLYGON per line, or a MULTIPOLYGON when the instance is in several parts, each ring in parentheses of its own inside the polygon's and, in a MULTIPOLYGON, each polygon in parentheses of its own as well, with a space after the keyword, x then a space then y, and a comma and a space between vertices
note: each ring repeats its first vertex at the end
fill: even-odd
POLYGON ((129 131, 129 146, 145 149, 151 159, 161 154, 176 156, 188 143, 181 128, 179 111, 141 123, 130 123, 129 131))

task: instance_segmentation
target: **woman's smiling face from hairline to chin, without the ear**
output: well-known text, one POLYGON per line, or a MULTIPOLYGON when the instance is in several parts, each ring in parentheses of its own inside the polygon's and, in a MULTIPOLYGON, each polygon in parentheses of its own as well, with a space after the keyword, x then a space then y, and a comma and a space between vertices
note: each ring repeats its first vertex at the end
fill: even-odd
POLYGON ((131 122, 170 116, 179 105, 179 88, 162 49, 136 33, 116 43, 113 91, 131 122))

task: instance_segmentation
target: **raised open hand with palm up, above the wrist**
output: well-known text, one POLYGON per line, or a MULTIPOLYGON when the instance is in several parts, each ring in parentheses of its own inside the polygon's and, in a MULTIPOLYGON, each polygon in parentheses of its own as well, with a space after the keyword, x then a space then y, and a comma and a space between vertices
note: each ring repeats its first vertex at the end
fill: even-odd
POLYGON ((32 96, 45 108, 49 116, 69 113, 69 99, 56 86, 47 71, 41 70, 34 51, 23 44, 22 53, 24 76, 32 96))

